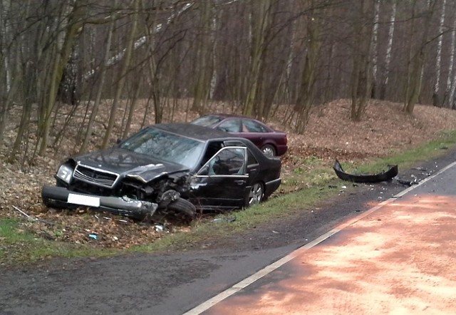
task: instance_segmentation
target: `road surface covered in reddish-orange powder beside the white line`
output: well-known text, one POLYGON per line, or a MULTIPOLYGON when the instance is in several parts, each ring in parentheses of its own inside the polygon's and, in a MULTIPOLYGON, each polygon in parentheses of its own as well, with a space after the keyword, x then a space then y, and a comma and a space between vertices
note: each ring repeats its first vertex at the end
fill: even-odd
POLYGON ((408 195, 203 314, 456 314, 456 197, 408 195))

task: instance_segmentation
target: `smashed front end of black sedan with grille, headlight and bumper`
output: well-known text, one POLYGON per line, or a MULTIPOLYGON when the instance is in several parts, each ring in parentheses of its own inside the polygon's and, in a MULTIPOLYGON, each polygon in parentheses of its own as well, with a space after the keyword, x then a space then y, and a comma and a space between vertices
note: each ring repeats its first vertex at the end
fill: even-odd
POLYGON ((56 173, 56 186, 43 186, 41 197, 48 207, 86 206, 136 219, 151 217, 190 190, 190 174, 169 174, 162 165, 144 165, 125 172, 68 160, 56 173))

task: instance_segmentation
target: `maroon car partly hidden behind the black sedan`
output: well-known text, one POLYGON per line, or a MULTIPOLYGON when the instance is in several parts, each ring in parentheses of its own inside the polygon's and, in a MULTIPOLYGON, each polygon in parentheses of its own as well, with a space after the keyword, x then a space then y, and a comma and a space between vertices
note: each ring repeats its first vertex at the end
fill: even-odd
POLYGON ((286 133, 274 130, 259 120, 242 115, 204 115, 191 123, 223 130, 237 135, 237 137, 247 138, 267 156, 284 155, 286 150, 288 150, 286 133))

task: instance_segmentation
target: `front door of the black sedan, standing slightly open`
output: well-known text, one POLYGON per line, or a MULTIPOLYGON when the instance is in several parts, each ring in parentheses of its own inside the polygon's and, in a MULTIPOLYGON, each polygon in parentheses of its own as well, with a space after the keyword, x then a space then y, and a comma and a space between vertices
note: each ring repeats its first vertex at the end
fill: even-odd
POLYGON ((247 182, 247 148, 220 149, 197 172, 191 198, 202 209, 233 209, 244 205, 247 182))

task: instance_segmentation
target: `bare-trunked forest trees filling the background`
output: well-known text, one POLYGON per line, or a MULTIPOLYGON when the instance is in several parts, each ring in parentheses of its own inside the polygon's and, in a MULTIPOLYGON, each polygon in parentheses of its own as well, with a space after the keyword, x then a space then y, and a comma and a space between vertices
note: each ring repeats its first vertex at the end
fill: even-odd
POLYGON ((455 108, 455 46, 450 0, 0 0, 0 143, 20 115, 9 161, 58 150, 68 106, 86 108, 81 151, 106 104, 101 148, 119 119, 125 137, 182 99, 266 122, 290 105, 296 133, 339 98, 355 121, 371 98, 455 108))

